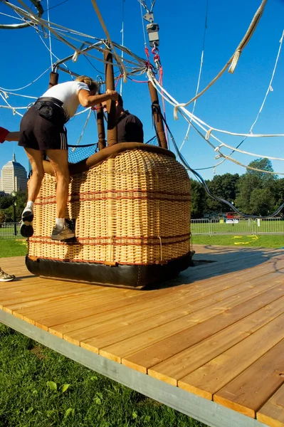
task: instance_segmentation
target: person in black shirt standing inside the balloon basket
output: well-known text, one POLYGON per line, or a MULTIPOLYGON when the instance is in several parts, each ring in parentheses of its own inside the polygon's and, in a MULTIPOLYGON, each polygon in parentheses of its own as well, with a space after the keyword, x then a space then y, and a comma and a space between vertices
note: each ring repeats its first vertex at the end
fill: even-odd
MULTIPOLYGON (((117 110, 117 142, 144 142, 142 122, 129 111, 124 110, 120 95, 118 95, 115 105, 117 110)), ((102 107, 106 111, 107 103, 102 102, 102 107)))

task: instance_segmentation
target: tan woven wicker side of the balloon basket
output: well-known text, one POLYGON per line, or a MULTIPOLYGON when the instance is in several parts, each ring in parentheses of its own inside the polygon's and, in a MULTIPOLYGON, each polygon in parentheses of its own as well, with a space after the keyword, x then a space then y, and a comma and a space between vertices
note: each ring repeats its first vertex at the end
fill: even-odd
POLYGON ((133 149, 73 176, 66 218, 76 242, 51 241, 56 179, 46 174, 28 255, 95 263, 152 264, 190 251, 190 181, 164 154, 133 149))

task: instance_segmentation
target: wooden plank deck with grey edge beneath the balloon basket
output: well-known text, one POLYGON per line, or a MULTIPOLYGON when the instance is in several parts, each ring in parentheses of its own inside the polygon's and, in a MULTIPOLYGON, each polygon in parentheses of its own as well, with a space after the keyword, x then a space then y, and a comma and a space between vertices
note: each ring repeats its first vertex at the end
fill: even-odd
POLYGON ((209 426, 284 426, 284 250, 194 249, 203 262, 154 290, 37 278, 2 258, 17 278, 0 284, 0 321, 74 359, 85 349, 86 366, 96 357, 209 426))

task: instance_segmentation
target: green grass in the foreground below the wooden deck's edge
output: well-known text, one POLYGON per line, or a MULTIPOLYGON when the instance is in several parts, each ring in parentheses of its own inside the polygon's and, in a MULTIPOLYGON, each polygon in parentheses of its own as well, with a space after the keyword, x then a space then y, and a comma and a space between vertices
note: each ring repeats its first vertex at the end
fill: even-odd
POLYGON ((0 324, 1 427, 201 427, 0 324))

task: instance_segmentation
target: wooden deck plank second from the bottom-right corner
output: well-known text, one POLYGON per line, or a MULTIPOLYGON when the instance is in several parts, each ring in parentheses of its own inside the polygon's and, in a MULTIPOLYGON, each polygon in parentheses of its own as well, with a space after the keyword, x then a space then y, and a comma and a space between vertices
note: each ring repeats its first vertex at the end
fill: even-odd
POLYGON ((283 372, 284 339, 214 394, 214 401, 255 418, 256 411, 284 383, 283 372))

